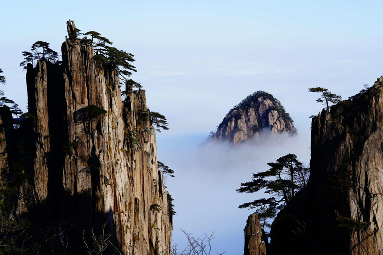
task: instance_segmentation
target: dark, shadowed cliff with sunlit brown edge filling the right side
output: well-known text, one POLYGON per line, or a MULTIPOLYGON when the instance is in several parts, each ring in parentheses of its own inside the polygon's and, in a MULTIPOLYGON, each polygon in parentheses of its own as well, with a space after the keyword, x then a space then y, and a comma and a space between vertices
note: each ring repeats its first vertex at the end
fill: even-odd
POLYGON ((309 186, 272 225, 276 254, 382 255, 382 155, 383 77, 313 118, 309 186))

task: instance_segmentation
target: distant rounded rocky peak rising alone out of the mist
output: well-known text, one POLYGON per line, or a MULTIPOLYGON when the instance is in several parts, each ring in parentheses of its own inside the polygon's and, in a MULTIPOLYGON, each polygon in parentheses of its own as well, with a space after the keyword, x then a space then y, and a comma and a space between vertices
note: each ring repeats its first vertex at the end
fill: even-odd
POLYGON ((293 121, 272 95, 257 91, 235 106, 219 124, 212 139, 233 144, 257 137, 261 130, 294 134, 293 121))

